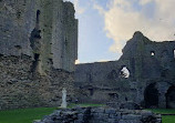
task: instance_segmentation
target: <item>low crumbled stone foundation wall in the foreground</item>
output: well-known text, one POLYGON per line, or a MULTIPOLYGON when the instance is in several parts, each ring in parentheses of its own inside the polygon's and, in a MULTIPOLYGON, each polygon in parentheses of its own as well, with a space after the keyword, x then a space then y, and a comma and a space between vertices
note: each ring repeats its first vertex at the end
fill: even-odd
POLYGON ((144 110, 76 107, 58 110, 34 123, 162 123, 162 117, 144 110))

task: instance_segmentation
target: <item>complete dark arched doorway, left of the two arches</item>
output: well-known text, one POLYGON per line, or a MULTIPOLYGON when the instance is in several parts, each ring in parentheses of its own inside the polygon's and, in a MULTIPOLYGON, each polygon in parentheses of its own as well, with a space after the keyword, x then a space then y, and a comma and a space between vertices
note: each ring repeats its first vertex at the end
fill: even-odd
POLYGON ((145 107, 158 106, 158 90, 155 88, 156 83, 150 84, 144 92, 145 107))

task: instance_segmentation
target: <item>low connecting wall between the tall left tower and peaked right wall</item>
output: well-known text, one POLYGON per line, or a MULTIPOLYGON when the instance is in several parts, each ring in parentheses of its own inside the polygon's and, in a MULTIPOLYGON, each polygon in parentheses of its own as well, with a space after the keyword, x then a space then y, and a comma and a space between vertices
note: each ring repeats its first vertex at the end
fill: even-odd
POLYGON ((75 88, 80 102, 106 103, 136 101, 136 81, 123 76, 117 61, 78 64, 75 88), (130 93, 130 94, 128 94, 130 93))

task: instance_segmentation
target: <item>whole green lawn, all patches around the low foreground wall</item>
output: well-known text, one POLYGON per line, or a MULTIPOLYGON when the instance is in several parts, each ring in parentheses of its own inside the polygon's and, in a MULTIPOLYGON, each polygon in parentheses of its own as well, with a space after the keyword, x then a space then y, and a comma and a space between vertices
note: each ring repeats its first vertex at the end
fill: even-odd
MULTIPOLYGON (((105 106, 103 104, 70 104, 69 107, 74 106, 105 106)), ((20 109, 0 111, 0 123, 32 123, 33 120, 41 120, 44 115, 51 114, 58 107, 35 107, 35 109, 20 109)), ((148 109, 154 113, 159 114, 175 114, 175 110, 167 109, 148 109)), ((175 115, 163 115, 163 123, 175 123, 175 115)))

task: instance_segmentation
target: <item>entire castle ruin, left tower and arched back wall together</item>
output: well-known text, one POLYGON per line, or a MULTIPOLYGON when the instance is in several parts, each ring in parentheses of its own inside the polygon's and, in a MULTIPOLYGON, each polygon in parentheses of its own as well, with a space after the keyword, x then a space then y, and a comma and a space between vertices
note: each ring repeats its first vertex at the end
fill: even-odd
POLYGON ((58 106, 63 88, 69 102, 175 107, 175 41, 135 32, 120 60, 74 65, 74 12, 62 0, 0 0, 0 110, 58 106))

